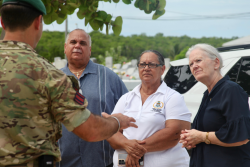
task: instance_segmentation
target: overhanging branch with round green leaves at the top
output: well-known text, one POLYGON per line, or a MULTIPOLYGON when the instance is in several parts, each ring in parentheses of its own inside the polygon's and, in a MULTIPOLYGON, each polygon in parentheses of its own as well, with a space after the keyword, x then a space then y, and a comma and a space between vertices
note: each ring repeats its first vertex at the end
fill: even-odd
MULTIPOLYGON (((98 10, 100 1, 107 3, 118 3, 120 0, 42 0, 47 11, 44 16, 44 23, 51 24, 56 21, 62 24, 68 15, 77 12, 79 19, 85 18, 85 26, 90 24, 93 30, 103 30, 106 25, 106 34, 109 28, 112 27, 115 35, 120 35, 122 30, 122 17, 118 16, 112 20, 111 14, 106 11, 98 10)), ((123 3, 130 5, 133 0, 122 0, 123 3)), ((0 0, 2 5, 2 0, 0 0)), ((146 14, 155 11, 152 19, 155 20, 165 13, 166 0, 135 0, 134 6, 140 10, 144 10, 146 14)))

